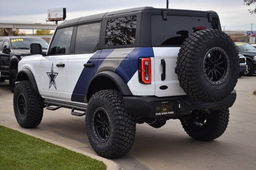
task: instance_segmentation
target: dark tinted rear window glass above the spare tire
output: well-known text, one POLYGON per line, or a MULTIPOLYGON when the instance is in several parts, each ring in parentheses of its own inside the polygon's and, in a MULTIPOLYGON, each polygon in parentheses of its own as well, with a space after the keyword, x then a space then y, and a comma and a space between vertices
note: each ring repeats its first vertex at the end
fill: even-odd
POLYGON ((151 17, 152 46, 180 46, 194 32, 193 27, 205 26, 207 29, 219 29, 218 18, 208 22, 205 17, 167 16, 162 20, 161 15, 151 17))

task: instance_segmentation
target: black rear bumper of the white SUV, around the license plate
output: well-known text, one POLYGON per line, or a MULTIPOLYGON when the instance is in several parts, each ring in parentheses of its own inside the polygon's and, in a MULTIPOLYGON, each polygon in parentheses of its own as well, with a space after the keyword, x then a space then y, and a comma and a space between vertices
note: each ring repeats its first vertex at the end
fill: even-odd
POLYGON ((155 115, 155 103, 172 101, 174 103, 174 114, 169 115, 170 118, 180 117, 181 115, 189 114, 195 109, 224 109, 231 107, 236 100, 236 90, 220 102, 204 103, 198 102, 187 95, 172 96, 167 98, 158 98, 156 96, 137 97, 137 96, 124 96, 124 105, 128 111, 140 118, 144 117, 159 117, 155 115), (180 107, 179 107, 180 106, 180 107))

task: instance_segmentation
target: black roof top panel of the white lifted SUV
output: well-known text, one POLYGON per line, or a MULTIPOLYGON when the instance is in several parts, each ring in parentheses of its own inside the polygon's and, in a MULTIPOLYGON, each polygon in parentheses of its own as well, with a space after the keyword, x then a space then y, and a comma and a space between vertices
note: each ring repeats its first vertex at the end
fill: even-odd
POLYGON ((200 12, 200 13, 208 13, 208 14, 217 14, 214 11, 178 10, 178 9, 154 8, 151 6, 144 6, 144 7, 130 8, 130 9, 125 9, 125 10, 113 11, 113 12, 106 12, 106 13, 95 14, 95 15, 91 15, 91 16, 75 18, 72 20, 67 20, 67 21, 60 23, 57 26, 57 28, 68 27, 68 26, 82 24, 82 23, 101 21, 104 16, 111 16, 111 15, 116 15, 116 14, 124 14, 124 13, 128 13, 128 12, 136 12, 136 11, 143 11, 143 10, 182 11, 182 12, 200 12))

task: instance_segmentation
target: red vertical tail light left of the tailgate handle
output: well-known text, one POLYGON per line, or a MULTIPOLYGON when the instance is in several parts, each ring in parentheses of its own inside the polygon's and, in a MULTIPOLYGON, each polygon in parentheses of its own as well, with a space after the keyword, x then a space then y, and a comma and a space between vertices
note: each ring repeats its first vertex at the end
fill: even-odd
POLYGON ((139 81, 142 84, 151 84, 151 60, 150 58, 139 59, 139 81))

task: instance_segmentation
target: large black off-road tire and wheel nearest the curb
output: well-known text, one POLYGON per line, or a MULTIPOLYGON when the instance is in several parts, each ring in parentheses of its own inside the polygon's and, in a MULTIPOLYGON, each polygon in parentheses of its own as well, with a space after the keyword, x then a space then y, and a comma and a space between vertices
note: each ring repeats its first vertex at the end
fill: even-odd
POLYGON ((88 102, 86 132, 94 151, 104 158, 117 158, 132 147, 136 133, 135 117, 130 114, 117 90, 101 90, 88 102))

